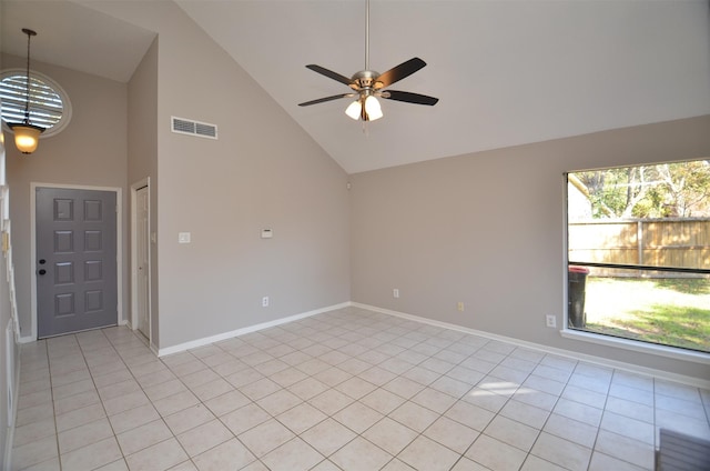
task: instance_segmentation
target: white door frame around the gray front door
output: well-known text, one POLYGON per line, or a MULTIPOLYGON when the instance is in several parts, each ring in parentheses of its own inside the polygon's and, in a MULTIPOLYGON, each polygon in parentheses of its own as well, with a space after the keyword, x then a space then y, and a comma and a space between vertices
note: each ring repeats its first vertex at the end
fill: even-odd
POLYGON ((123 318, 123 190, 118 187, 88 187, 82 184, 57 184, 30 182, 30 338, 22 338, 22 342, 37 340, 37 196, 38 187, 67 188, 70 190, 112 191, 115 193, 115 284, 116 284, 116 323, 124 324, 123 318))

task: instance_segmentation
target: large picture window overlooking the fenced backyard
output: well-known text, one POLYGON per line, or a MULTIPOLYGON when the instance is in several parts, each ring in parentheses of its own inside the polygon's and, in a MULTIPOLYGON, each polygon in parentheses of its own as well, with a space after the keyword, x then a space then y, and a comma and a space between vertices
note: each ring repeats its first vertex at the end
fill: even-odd
POLYGON ((710 352, 710 160, 567 182, 567 327, 710 352))

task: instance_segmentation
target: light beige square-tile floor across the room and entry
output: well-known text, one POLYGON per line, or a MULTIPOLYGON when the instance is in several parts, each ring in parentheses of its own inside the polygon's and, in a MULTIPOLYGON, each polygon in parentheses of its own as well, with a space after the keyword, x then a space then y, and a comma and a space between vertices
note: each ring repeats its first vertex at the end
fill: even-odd
POLYGON ((22 345, 14 470, 652 470, 710 391, 346 308, 158 359, 22 345))

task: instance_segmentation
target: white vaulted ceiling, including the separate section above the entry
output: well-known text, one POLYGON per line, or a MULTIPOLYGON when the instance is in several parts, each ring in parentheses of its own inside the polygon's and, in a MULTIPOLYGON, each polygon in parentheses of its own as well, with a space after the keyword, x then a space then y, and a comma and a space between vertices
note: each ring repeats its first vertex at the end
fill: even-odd
MULTIPOLYGON (((364 68, 365 0, 176 3, 351 173, 710 113, 707 0, 371 1, 371 68, 419 57, 392 88, 440 101, 383 100, 366 133, 347 99, 297 106, 348 91, 305 64, 364 68)), ((37 60, 120 81, 154 37, 72 1, 2 0, 3 51, 24 56, 23 27, 37 60)))

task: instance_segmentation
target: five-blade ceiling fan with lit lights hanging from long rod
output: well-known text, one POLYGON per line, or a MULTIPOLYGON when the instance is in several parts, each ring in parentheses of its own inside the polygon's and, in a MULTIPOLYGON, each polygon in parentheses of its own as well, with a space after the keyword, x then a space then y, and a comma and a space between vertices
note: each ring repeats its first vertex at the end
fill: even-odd
POLYGON ((324 67, 308 64, 306 68, 325 76, 329 79, 344 83, 353 89, 352 92, 334 94, 332 97, 318 98, 316 100, 298 103, 300 107, 308 107, 311 104, 324 103, 326 101, 338 100, 341 98, 355 98, 345 113, 354 120, 374 121, 383 117, 382 107, 377 98, 404 101, 406 103, 434 106, 439 101, 438 98, 428 97, 426 94, 412 93, 399 90, 384 90, 390 84, 398 82, 412 76, 417 70, 426 66, 419 58, 412 58, 402 62, 385 73, 378 73, 369 69, 369 0, 366 0, 365 11, 365 70, 355 72, 352 78, 347 78, 337 72, 333 72, 324 67))

